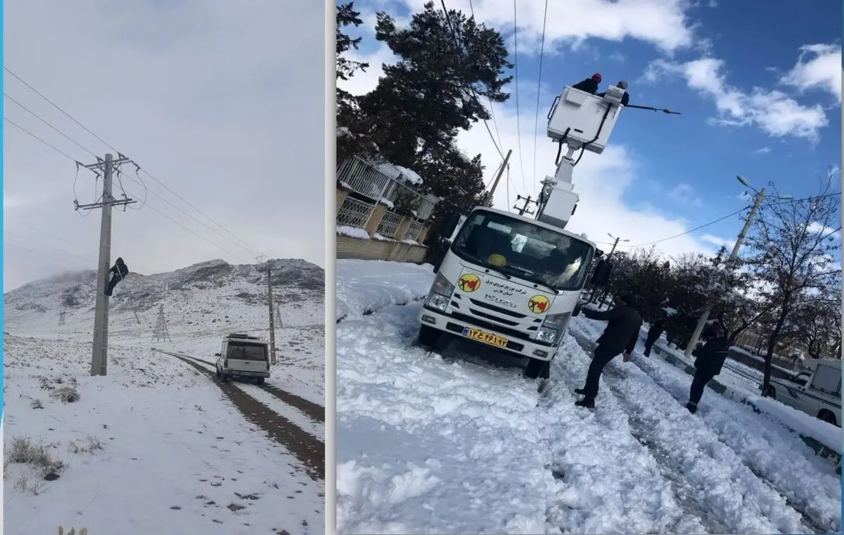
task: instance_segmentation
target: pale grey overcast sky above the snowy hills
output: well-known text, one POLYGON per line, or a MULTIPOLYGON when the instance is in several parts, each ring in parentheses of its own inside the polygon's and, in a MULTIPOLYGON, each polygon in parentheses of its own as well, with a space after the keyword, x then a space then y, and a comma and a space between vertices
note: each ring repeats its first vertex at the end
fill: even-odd
MULTIPOLYGON (((3 7, 6 68, 226 229, 141 172, 147 205, 113 212, 112 262, 122 256, 130 270, 149 274, 208 259, 254 263, 262 253, 324 267, 325 3, 12 0, 3 7)), ((74 160, 95 161, 11 97, 96 155, 113 152, 18 79, 4 73, 3 81, 7 119, 74 160)), ((4 135, 4 292, 95 269, 100 211, 73 210, 73 161, 11 124, 4 135)), ((143 201, 134 167, 124 172, 127 193, 143 201)), ((91 172, 78 173, 80 203, 95 201, 95 185, 91 172)))

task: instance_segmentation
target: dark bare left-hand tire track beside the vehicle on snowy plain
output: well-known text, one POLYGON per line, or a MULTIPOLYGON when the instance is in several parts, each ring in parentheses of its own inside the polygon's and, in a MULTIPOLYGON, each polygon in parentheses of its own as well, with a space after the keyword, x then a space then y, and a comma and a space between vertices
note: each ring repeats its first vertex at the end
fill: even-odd
POLYGON ((257 425, 271 439, 279 443, 279 445, 284 446, 285 450, 289 451, 291 455, 302 463, 308 477, 315 481, 325 480, 325 444, 322 441, 305 430, 300 429, 295 423, 290 422, 278 412, 274 412, 262 402, 249 396, 244 390, 237 388, 236 385, 230 385, 216 380, 214 372, 205 368, 203 364, 207 363, 201 359, 185 358, 174 353, 163 352, 161 350, 157 351, 178 358, 181 362, 186 363, 198 372, 208 375, 208 378, 220 390, 223 390, 225 396, 229 398, 246 420, 257 425))

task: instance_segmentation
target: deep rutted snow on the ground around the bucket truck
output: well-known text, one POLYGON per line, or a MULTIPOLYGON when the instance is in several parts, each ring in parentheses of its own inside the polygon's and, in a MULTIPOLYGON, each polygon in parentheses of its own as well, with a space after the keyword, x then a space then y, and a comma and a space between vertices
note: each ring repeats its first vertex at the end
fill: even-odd
POLYGON ((598 408, 575 407, 590 361, 575 336, 600 323, 572 321, 544 382, 415 347, 432 280, 338 261, 338 532, 840 530, 830 463, 711 390, 690 415, 690 377, 661 359, 616 359, 598 408))

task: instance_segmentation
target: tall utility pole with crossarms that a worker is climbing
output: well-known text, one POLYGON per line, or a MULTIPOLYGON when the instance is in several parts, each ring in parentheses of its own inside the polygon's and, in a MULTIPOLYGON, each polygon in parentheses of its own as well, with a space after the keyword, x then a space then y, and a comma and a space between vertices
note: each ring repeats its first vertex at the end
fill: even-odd
MULTIPOLYGON (((132 205, 138 201, 129 199, 125 194, 123 199, 115 199, 111 193, 111 176, 115 170, 119 170, 124 163, 134 163, 126 156, 117 153, 117 159, 111 154, 106 154, 105 160, 97 158, 96 163, 83 166, 94 171, 97 175, 102 172, 103 194, 100 202, 89 205, 80 205, 73 201, 76 210, 95 210, 102 208, 102 219, 100 220, 100 258, 97 265, 97 299, 94 312, 94 347, 91 353, 91 375, 106 375, 108 367, 108 303, 106 296, 106 283, 108 282, 108 270, 111 267, 111 207, 132 205), (98 172, 99 171, 99 172, 98 172)), ((77 163, 77 166, 79 164, 77 163)), ((138 164, 135 164, 138 167, 138 164)))

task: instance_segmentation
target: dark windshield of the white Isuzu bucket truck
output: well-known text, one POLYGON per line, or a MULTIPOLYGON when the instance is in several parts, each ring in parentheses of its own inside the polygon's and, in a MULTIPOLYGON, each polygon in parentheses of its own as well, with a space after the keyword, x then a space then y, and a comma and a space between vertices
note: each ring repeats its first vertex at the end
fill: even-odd
POLYGON ((529 221, 476 210, 452 244, 458 257, 555 290, 580 290, 594 249, 589 243, 529 221))

